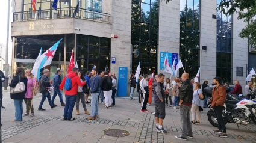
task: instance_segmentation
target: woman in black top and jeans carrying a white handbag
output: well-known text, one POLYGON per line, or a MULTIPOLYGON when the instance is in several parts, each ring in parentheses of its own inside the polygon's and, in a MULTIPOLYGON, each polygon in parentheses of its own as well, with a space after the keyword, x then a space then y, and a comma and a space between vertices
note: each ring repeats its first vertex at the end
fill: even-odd
POLYGON ((28 79, 22 67, 16 69, 16 75, 11 80, 9 86, 11 87, 11 99, 14 100, 15 119, 14 122, 22 121, 23 114, 23 99, 27 91, 28 79))

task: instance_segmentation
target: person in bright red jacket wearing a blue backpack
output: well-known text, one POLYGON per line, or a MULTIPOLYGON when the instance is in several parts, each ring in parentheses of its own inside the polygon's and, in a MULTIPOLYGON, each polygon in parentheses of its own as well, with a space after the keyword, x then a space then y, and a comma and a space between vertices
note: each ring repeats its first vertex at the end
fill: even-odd
POLYGON ((72 118, 72 112, 76 102, 78 86, 83 87, 86 84, 86 81, 81 82, 76 73, 78 73, 78 68, 73 67, 72 71, 64 76, 60 84, 60 90, 63 90, 65 86, 66 106, 64 108, 64 120, 75 120, 75 118, 72 118))

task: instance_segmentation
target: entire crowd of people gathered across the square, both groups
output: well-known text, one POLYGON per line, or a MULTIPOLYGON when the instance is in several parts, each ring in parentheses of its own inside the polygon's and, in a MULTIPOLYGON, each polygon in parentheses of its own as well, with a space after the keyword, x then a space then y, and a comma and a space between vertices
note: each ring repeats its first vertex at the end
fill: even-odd
MULTIPOLYGON (((39 82, 37 82, 37 79, 31 74, 31 70, 24 70, 22 67, 16 69, 16 75, 9 83, 9 86, 14 88, 17 84, 23 82, 25 90, 18 93, 11 93, 11 99, 14 100, 15 106, 14 122, 22 121, 25 116, 34 115, 32 101, 35 87, 39 87, 39 91, 42 93, 42 100, 38 111, 45 111, 43 109, 43 103, 46 98, 51 109, 56 108, 57 105, 54 104, 54 100, 58 94, 60 105, 64 106, 63 120, 75 120, 72 117, 73 108, 76 105, 76 114, 79 115, 80 101, 83 105, 84 114, 90 115, 87 120, 99 118, 99 97, 101 97, 101 103, 104 104, 105 109, 115 106, 117 79, 114 73, 109 75, 107 71, 102 71, 98 75, 98 71, 93 69, 91 72, 87 71, 84 76, 82 71, 78 71, 78 68, 74 67, 72 71, 64 76, 63 80, 61 80, 61 70, 57 70, 52 81, 49 80, 49 74, 48 69, 43 70, 43 75, 40 77, 39 82), (63 102, 61 94, 61 90, 64 88, 66 103, 63 102), (52 98, 51 91, 54 91, 52 98), (89 95, 91 96, 90 102, 88 100, 89 95), (105 103, 103 102, 104 99, 105 103), (23 100, 26 104, 25 114, 23 114, 23 100), (92 108, 91 113, 87 111, 86 105, 89 103, 92 108)), ((140 78, 139 81, 136 81, 134 74, 131 74, 129 82, 130 100, 133 100, 137 87, 139 103, 141 104, 140 112, 149 112, 147 106, 151 106, 153 97, 155 111, 152 114, 155 114, 155 129, 157 132, 167 133, 163 128, 163 121, 166 116, 165 109, 169 106, 173 107, 173 109, 180 109, 183 132, 181 135, 175 137, 183 140, 193 138, 192 124, 200 124, 200 108, 202 105, 204 108, 207 108, 208 96, 203 93, 203 90, 208 87, 208 81, 204 81, 201 86, 199 82, 189 79, 189 73, 183 73, 181 78, 174 78, 173 81, 160 73, 155 75, 155 78, 149 78, 149 75, 143 75, 143 78, 140 78), (192 120, 190 120, 190 112, 192 114, 192 120)), ((242 94, 242 87, 239 81, 235 81, 234 90, 231 90, 228 83, 222 85, 222 79, 219 77, 214 78, 210 86, 213 87, 210 101, 211 108, 214 109, 219 124, 219 127, 213 131, 219 133, 219 137, 227 137, 226 127, 222 117, 226 93, 242 94)), ((254 90, 256 88, 252 88, 252 82, 248 82, 248 85, 245 86, 246 95, 249 94, 249 91, 254 90)))

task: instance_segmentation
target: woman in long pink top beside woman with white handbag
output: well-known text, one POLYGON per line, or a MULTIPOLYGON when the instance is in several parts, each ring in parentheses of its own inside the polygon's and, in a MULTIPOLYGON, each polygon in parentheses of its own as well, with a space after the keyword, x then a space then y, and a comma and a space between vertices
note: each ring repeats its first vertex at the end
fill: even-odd
POLYGON ((36 86, 36 79, 31 74, 31 70, 26 70, 26 76, 28 78, 28 85, 27 85, 27 92, 25 94, 24 102, 26 104, 26 113, 23 116, 34 116, 34 107, 32 105, 32 99, 33 99, 33 88, 36 86))

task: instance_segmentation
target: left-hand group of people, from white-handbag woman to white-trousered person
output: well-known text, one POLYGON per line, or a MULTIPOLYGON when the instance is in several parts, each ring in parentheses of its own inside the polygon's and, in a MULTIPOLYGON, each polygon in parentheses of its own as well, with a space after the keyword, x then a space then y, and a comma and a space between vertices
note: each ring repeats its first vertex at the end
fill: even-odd
MULTIPOLYGON (((101 103, 104 103, 103 100, 105 99, 106 109, 116 104, 117 79, 114 73, 108 75, 107 71, 102 71, 102 73, 98 75, 98 71, 93 69, 92 72, 87 71, 86 76, 84 76, 83 71, 78 71, 78 68, 74 67, 72 71, 64 76, 63 80, 61 80, 61 74, 61 70, 57 70, 52 81, 50 81, 50 71, 45 69, 43 70, 43 75, 40 76, 39 82, 37 82, 37 79, 31 74, 31 70, 24 70, 22 67, 18 67, 9 86, 15 88, 17 86, 20 87, 21 84, 24 85, 25 89, 11 93, 11 99, 14 100, 15 106, 15 118, 13 121, 19 122, 23 120, 23 117, 34 116, 33 96, 37 93, 34 91, 35 88, 39 88, 42 94, 42 99, 37 111, 46 111, 43 109, 43 103, 46 98, 48 99, 50 108, 56 108, 57 105, 54 104, 54 100, 58 94, 60 106, 64 106, 63 120, 75 120, 75 118, 72 117, 73 108, 76 106, 76 115, 79 115, 80 101, 83 105, 84 114, 90 115, 87 120, 99 118, 99 96, 101 96, 101 103), (67 85, 70 85, 70 88, 67 87, 67 85), (61 94, 63 88, 65 88, 64 94, 66 103, 64 103, 63 95, 61 94), (52 97, 51 91, 54 91, 52 97), (88 100, 89 95, 91 95, 90 102, 88 100), (25 114, 23 114, 23 100, 26 104, 25 114), (92 108, 91 113, 87 111, 86 105, 89 103, 92 108)), ((1 78, 1 80, 4 81, 4 78, 1 78)), ((0 96, 2 96, 2 92, 0 96)))

